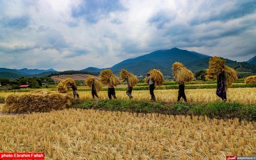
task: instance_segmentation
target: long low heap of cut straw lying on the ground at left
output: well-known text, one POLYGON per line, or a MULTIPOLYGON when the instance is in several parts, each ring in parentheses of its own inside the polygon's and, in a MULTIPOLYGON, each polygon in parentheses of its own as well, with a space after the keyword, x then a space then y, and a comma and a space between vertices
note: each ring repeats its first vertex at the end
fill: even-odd
POLYGON ((3 106, 4 113, 33 113, 49 112, 51 110, 65 109, 72 103, 73 96, 69 93, 29 92, 23 95, 12 94, 6 98, 3 106))

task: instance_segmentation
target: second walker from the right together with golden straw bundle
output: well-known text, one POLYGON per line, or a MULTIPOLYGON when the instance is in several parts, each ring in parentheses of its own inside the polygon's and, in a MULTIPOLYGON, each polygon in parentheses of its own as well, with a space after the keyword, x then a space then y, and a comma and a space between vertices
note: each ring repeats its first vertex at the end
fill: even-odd
POLYGON ((180 99, 183 98, 184 101, 187 102, 187 98, 185 95, 185 83, 192 81, 194 74, 191 72, 191 70, 188 70, 188 68, 184 67, 184 65, 179 62, 173 63, 172 70, 173 70, 173 77, 175 77, 176 81, 179 84, 177 101, 179 102, 180 99))

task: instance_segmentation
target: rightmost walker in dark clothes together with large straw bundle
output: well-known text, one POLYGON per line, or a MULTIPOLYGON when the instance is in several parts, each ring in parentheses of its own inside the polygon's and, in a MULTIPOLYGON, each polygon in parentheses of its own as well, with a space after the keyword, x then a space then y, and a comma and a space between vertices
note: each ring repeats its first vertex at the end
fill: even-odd
POLYGON ((209 61, 205 78, 209 81, 217 78, 216 95, 218 95, 223 102, 226 102, 228 86, 231 86, 236 80, 237 73, 236 70, 225 65, 225 60, 214 56, 209 61))

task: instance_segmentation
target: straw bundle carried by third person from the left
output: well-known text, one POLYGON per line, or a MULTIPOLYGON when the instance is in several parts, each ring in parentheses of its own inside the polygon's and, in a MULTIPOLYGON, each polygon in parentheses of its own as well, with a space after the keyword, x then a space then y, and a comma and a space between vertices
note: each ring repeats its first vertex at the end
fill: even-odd
POLYGON ((102 84, 110 83, 111 86, 116 86, 117 84, 120 84, 120 80, 113 74, 110 69, 102 70, 99 79, 102 84))

